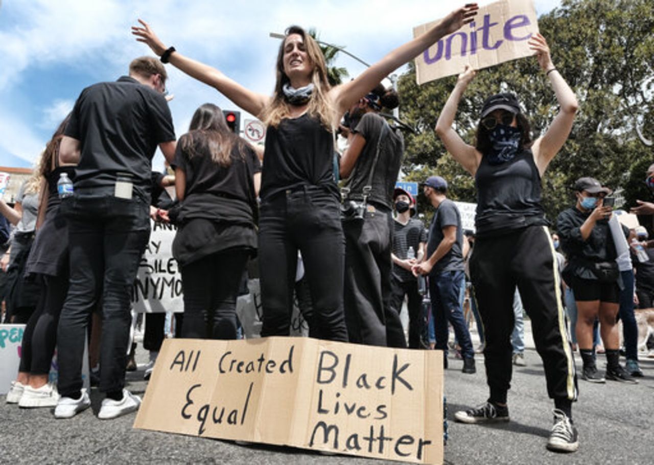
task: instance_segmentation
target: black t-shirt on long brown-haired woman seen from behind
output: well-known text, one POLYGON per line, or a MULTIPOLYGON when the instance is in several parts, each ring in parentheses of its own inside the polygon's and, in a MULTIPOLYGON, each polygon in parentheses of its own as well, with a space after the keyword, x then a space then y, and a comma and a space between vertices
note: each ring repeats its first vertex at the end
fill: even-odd
MULTIPOLYGON (((230 154, 232 162, 223 167, 211 159, 207 143, 201 137, 196 137, 192 156, 183 151, 187 137, 187 134, 182 135, 175 152, 175 165, 186 175, 182 202, 185 218, 211 219, 212 215, 220 218, 228 213, 225 207, 234 207, 235 210, 230 209, 230 215, 239 215, 238 212, 242 210, 251 222, 256 207, 253 176, 261 171, 254 150, 243 141, 234 141, 230 154), (215 205, 220 205, 216 207, 219 211, 213 211, 215 205)), ((235 135, 233 137, 237 138, 235 135)), ((222 219, 232 221, 237 218, 222 219)))

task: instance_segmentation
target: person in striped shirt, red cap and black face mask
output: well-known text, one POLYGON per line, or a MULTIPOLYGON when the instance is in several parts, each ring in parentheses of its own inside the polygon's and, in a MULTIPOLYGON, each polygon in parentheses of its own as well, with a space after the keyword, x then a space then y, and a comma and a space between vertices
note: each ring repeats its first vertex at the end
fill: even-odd
MULTIPOLYGON (((397 216, 393 222, 393 249, 390 258, 393 262, 391 276, 391 307, 400 314, 404 296, 407 297, 409 313, 409 349, 419 349, 422 346, 422 333, 425 328, 422 315, 422 295, 418 281, 411 267, 424 258, 427 245, 427 232, 424 224, 418 218, 411 218, 415 211, 415 199, 404 189, 393 191, 393 202, 397 216), (409 248, 413 257, 409 257, 409 248)), ((426 289, 423 290, 426 292, 426 289)))

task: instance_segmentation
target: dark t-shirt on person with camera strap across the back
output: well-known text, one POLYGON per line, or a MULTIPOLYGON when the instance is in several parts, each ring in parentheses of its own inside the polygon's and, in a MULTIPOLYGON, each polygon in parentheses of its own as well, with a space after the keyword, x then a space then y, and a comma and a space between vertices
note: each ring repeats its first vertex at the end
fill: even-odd
POLYGON ((404 154, 404 138, 400 131, 393 131, 388 127, 387 122, 375 113, 366 113, 356 125, 354 133, 360 134, 366 139, 366 145, 356 160, 352 174, 345 186, 350 189, 350 195, 355 197, 363 194, 363 188, 368 184, 370 171, 373 168, 375 154, 377 154, 377 143, 382 135, 383 139, 379 145, 379 159, 375 165, 375 173, 371 181, 371 201, 377 201, 389 209, 392 208, 393 190, 398 180, 402 155, 404 154))

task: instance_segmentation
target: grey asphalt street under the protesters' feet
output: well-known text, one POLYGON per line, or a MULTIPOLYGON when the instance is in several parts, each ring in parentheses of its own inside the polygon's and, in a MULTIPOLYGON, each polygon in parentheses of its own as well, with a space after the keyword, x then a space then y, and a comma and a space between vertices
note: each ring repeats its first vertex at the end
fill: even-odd
MULTIPOLYGON (((525 326, 529 326, 528 323, 525 326)), ((477 373, 464 375, 462 362, 449 358, 445 395, 449 419, 448 464, 605 464, 654 463, 654 359, 642 358, 645 377, 638 385, 579 381, 574 421, 579 451, 570 455, 545 449, 553 405, 547 398, 540 357, 526 331, 526 367, 514 367, 509 392, 511 422, 499 426, 458 424, 454 412, 487 398, 483 356, 477 373)), ((474 338, 475 335, 473 335, 474 338)), ((139 370, 128 373, 128 388, 145 392, 147 354, 139 344, 139 370)), ((600 356, 602 357, 602 356, 600 356)), ((598 360, 602 367, 602 358, 598 360)), ((577 366, 581 361, 577 356, 577 366)), ((367 464, 383 461, 352 456, 324 456, 301 449, 237 445, 230 441, 163 434, 132 428, 135 415, 97 419, 101 395, 92 391, 92 409, 70 420, 56 420, 52 409, 22 410, 0 396, 0 463, 192 463, 192 464, 367 464)))

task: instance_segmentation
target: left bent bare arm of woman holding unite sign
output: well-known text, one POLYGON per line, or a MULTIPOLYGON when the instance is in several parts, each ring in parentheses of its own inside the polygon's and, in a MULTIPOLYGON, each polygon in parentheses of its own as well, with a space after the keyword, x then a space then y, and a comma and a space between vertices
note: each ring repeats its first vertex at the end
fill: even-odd
POLYGON ((481 153, 472 145, 466 144, 454 128, 452 128, 456 116, 456 109, 458 109, 458 102, 463 93, 466 92, 466 88, 468 88, 468 84, 470 84, 473 77, 475 77, 475 70, 466 65, 463 73, 458 76, 456 86, 445 102, 440 116, 438 116, 436 134, 441 138, 445 148, 452 154, 453 158, 468 173, 474 176, 477 173, 479 162, 481 162, 481 153))

